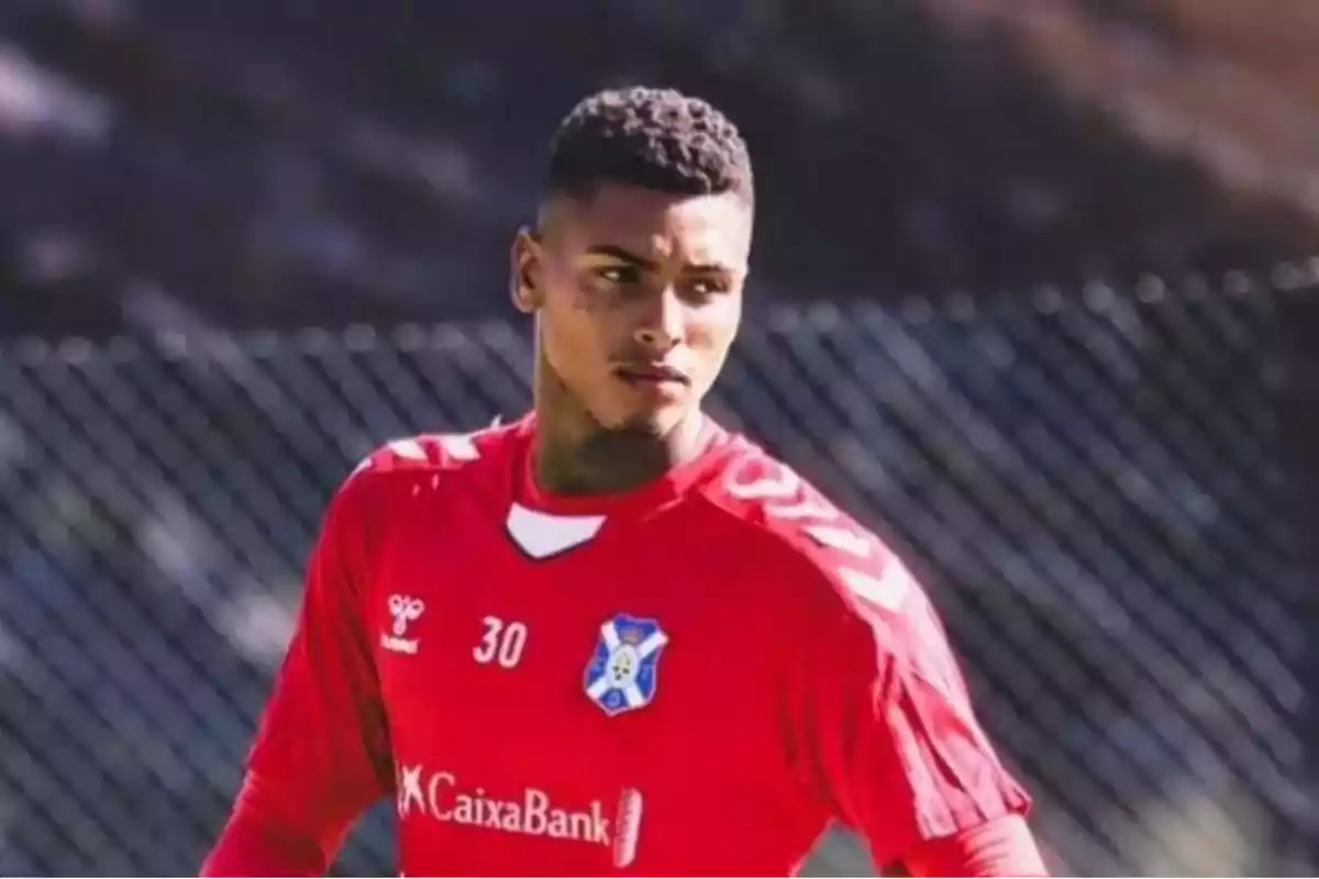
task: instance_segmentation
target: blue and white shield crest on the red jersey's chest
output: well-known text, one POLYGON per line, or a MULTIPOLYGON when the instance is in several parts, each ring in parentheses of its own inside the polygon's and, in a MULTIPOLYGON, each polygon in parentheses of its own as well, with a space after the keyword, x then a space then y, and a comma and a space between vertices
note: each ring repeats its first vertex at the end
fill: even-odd
POLYGON ((609 717, 645 708, 656 695, 660 654, 669 635, 656 619, 617 614, 600 626, 586 695, 609 717))

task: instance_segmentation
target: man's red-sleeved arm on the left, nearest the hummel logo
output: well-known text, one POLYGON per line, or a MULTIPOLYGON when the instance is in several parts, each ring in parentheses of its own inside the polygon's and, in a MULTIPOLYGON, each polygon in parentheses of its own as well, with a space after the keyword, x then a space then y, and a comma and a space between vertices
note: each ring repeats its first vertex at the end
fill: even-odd
POLYGON ((368 481, 351 477, 330 503, 297 630, 203 876, 323 875, 352 821, 393 787, 364 625, 368 481))

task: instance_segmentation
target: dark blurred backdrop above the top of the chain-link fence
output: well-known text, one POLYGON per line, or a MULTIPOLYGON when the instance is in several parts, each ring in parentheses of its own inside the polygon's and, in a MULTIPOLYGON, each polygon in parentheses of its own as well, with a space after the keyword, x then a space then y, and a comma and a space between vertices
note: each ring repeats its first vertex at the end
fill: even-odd
POLYGON ((9 0, 0 332, 501 314, 549 132, 637 80, 752 140, 760 302, 1304 256, 1290 196, 1319 198, 1277 158, 1314 94, 1203 26, 1219 75, 1187 75, 1200 32, 1171 11, 1199 5, 9 0))

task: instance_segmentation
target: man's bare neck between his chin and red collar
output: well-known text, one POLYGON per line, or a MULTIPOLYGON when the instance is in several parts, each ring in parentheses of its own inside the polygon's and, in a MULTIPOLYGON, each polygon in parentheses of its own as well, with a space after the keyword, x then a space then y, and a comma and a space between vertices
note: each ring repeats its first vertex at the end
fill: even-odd
POLYGON ((554 378, 537 382, 536 420, 536 481, 561 496, 616 494, 657 480, 699 453, 704 424, 694 410, 660 436, 604 430, 554 378))

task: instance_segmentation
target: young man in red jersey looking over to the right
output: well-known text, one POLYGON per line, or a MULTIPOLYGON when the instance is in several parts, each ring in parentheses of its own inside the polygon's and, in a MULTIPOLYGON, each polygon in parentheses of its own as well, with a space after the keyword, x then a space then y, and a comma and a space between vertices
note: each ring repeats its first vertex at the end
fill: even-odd
POLYGON ((384 796, 408 875, 789 874, 831 820, 914 875, 1043 874, 921 588, 700 411, 752 213, 708 104, 565 119, 512 249, 534 411, 339 489, 203 874, 321 874, 384 796))

